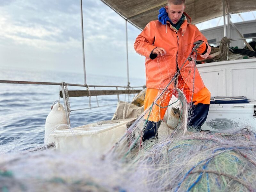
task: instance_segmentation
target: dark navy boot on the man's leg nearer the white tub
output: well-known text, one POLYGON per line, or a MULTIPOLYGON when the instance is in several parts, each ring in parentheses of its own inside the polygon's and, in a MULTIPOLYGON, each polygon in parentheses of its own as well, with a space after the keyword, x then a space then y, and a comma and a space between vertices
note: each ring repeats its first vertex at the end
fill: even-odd
MULTIPOLYGON (((144 122, 146 120, 144 119, 144 122)), ((158 138, 157 129, 160 127, 160 121, 148 121, 143 131, 142 142, 150 138, 158 138)))

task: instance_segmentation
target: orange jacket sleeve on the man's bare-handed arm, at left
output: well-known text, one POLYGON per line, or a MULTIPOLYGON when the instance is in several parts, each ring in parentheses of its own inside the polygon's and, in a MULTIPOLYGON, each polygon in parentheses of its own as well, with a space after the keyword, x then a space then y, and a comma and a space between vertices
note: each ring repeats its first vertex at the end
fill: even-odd
POLYGON ((140 35, 135 39, 134 49, 137 53, 148 58, 150 57, 151 52, 156 48, 156 46, 153 45, 155 32, 156 24, 154 21, 150 21, 140 35))

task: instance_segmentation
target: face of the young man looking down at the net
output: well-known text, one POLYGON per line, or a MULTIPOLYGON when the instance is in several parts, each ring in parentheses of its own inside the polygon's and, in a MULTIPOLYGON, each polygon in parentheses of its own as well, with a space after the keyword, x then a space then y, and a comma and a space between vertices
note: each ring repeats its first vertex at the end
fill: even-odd
POLYGON ((168 13, 168 17, 171 19, 173 24, 176 24, 180 20, 182 13, 184 12, 184 9, 184 4, 174 5, 171 3, 169 6, 165 6, 165 10, 168 13))

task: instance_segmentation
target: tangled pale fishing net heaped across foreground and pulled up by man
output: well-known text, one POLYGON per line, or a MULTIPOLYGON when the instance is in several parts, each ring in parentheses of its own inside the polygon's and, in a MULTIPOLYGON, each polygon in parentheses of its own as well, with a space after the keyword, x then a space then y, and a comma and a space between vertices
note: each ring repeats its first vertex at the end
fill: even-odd
MULTIPOLYGON (((191 53, 178 70, 188 72, 186 84, 194 83, 195 60, 191 53)), ((166 87, 178 78, 166 80, 166 87)), ((1 155, 0 190, 256 191, 255 132, 248 127, 222 133, 189 127, 193 91, 185 92, 185 87, 160 89, 152 105, 103 155, 79 148, 69 154, 48 149, 1 155), (172 134, 142 142, 149 117, 160 115, 156 106, 172 106, 177 124, 172 134)))

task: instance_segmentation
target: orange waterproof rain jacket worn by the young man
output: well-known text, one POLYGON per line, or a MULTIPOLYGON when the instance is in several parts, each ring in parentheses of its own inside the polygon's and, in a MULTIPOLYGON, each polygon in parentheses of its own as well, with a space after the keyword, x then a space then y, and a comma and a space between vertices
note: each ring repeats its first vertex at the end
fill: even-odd
MULTIPOLYGON (((165 88, 177 72, 177 65, 180 68, 188 58, 188 55, 195 46, 193 45, 194 42, 202 40, 208 46, 207 52, 204 55, 198 55, 197 60, 206 58, 211 51, 205 36, 203 36, 195 25, 190 24, 191 18, 188 14, 185 12, 183 14, 186 17, 179 30, 174 28, 169 21, 167 21, 166 25, 163 25, 158 20, 154 20, 147 24, 135 40, 135 51, 146 57, 147 88, 165 88), (163 47, 166 55, 150 59, 149 56, 156 47, 163 47)), ((194 70, 185 68, 188 63, 189 61, 183 66, 180 74, 188 88, 193 90, 194 70), (189 73, 192 73, 192 75, 189 73), (189 80, 187 79, 188 76, 189 80)), ((196 68, 194 92, 200 91, 203 87, 203 80, 196 68)), ((168 88, 174 88, 174 82, 168 88)))

